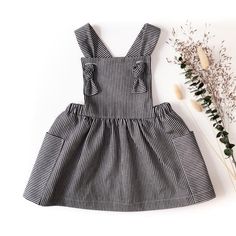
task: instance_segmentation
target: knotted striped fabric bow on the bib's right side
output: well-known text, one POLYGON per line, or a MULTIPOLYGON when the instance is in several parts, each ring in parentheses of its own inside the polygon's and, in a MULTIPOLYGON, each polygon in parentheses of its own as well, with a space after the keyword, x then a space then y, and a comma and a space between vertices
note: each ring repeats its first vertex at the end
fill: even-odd
POLYGON ((144 82, 144 70, 145 63, 143 61, 136 62, 136 64, 132 68, 132 73, 134 76, 134 82, 131 92, 132 93, 144 93, 147 91, 145 82, 144 82))

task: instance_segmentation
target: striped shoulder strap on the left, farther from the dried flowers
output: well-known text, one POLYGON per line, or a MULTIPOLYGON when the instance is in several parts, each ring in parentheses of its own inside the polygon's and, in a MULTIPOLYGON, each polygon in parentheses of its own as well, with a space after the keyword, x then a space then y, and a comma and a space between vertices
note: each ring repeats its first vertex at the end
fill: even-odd
POLYGON ((89 23, 76 29, 74 32, 80 49, 85 57, 112 57, 89 23))

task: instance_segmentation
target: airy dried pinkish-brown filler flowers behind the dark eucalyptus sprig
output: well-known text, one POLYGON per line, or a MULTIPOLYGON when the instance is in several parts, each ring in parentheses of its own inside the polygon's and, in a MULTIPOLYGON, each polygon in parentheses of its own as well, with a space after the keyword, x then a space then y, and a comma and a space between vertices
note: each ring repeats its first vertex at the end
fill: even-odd
POLYGON ((208 27, 206 25, 203 34, 196 34, 199 30, 193 28, 190 22, 181 26, 180 32, 173 29, 167 43, 177 55, 167 61, 180 65, 181 57, 187 67, 191 65, 192 76, 197 75, 204 83, 222 122, 236 122, 236 76, 232 70, 232 57, 226 53, 224 40, 220 46, 209 46, 215 35, 208 27), (203 37, 199 38, 199 35, 203 37))

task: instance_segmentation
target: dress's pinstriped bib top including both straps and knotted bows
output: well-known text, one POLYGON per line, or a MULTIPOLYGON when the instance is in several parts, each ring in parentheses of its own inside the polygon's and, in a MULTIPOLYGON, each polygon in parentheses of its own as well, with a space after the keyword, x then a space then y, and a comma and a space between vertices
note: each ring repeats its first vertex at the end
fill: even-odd
POLYGON ((84 54, 81 62, 86 115, 151 117, 151 54, 160 28, 144 24, 124 57, 113 57, 89 23, 76 29, 75 35, 84 54))

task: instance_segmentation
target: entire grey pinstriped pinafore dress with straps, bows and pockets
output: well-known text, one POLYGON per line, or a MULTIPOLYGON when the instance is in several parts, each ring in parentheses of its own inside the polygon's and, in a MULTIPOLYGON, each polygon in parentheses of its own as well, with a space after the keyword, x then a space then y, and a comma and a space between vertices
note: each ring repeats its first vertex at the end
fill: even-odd
POLYGON ((170 103, 153 106, 151 54, 160 29, 146 23, 125 57, 112 57, 90 24, 75 35, 85 104, 70 103, 56 117, 23 196, 41 206, 110 211, 215 198, 194 132, 170 103))

